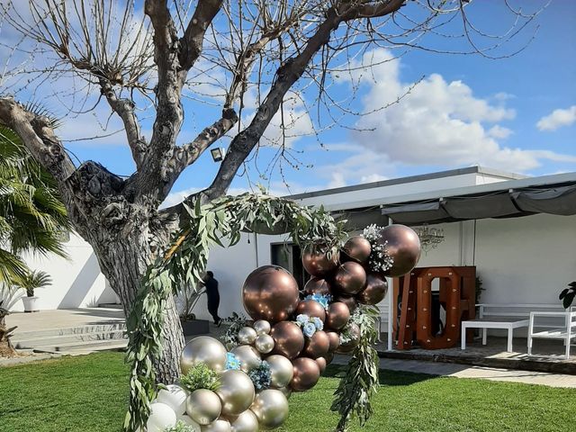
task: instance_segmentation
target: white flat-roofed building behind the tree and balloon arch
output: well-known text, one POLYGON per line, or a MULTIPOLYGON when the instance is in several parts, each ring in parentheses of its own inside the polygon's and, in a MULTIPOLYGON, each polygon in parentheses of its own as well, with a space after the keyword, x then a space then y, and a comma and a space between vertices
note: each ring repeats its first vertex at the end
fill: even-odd
MULTIPOLYGON (((525 177, 473 166, 292 198, 344 213, 353 229, 391 220, 444 229, 445 240, 423 253, 419 266, 476 266, 485 289, 482 302, 555 303, 576 279, 576 173, 525 177)), ((243 311, 241 287, 257 266, 283 264, 298 272, 299 257, 279 254, 285 239, 244 234, 237 246, 211 251, 209 269, 220 282, 220 316, 243 311)), ((69 252, 69 262, 30 263, 54 279, 52 287, 37 291, 40 309, 115 302, 92 249, 72 237, 69 252)), ((386 305, 384 300, 384 314, 386 305)), ((209 318, 205 298, 194 312, 209 318)))

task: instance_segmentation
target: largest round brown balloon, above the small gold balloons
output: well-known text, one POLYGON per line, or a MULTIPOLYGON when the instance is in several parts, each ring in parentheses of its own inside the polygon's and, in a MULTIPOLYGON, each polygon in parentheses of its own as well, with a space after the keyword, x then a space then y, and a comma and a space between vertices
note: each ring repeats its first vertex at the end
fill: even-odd
POLYGON ((298 283, 279 266, 262 266, 246 278, 242 288, 244 309, 254 320, 287 320, 299 302, 298 283))

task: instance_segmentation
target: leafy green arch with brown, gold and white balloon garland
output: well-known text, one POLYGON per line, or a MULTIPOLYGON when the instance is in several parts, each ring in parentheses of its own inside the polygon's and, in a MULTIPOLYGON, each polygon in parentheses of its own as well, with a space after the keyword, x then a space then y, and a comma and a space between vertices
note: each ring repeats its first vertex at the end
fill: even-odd
POLYGON ((342 222, 332 220, 322 209, 314 211, 287 200, 241 195, 188 210, 190 226, 179 243, 176 241, 177 247, 148 270, 139 296, 142 301, 136 311, 145 312, 146 320, 138 320, 139 326, 130 329, 133 369, 125 428, 147 432, 277 428, 288 416, 290 394, 314 387, 335 353, 353 353, 352 363, 358 370, 347 374, 345 380, 359 384, 354 394, 347 394, 349 385, 341 389, 342 383, 337 390, 332 409, 341 415, 338 428, 346 428, 353 412, 365 421, 371 410, 371 387, 377 384, 374 305, 387 291, 385 275, 418 261, 419 239, 414 231, 401 226, 369 227, 364 237, 349 238, 342 247, 342 222), (158 314, 153 320, 153 314, 146 313, 149 302, 152 299, 161 305, 177 282, 198 279, 211 243, 221 245, 221 237, 234 243, 242 229, 253 229, 263 221, 270 230, 279 222, 290 229, 305 250, 302 264, 311 280, 301 293, 293 275, 282 267, 262 266, 252 272, 242 289, 244 307, 252 320, 237 316, 226 335, 226 347, 214 338, 194 338, 181 356, 182 383, 200 384, 188 389, 184 385, 161 386, 157 391, 149 359, 146 363, 146 356, 136 354, 147 349, 161 353, 159 342, 155 345, 150 338, 140 343, 137 351, 143 324, 161 324, 158 314), (195 253, 186 253, 188 240, 194 242, 195 253), (186 259, 191 267, 183 272, 186 259), (175 260, 180 266, 173 264, 175 260), (147 366, 145 375, 141 374, 142 365, 147 366), (371 378, 366 379, 360 369, 371 378), (210 374, 217 377, 217 383, 207 378, 210 374))

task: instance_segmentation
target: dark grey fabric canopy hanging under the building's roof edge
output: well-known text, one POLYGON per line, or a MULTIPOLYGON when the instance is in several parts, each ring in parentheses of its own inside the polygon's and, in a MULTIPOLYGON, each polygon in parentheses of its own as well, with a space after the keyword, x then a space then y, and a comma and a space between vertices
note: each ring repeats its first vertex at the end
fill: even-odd
POLYGON ((484 194, 447 196, 435 201, 383 206, 382 213, 399 223, 439 223, 486 218, 514 218, 535 213, 576 214, 576 184, 484 194))

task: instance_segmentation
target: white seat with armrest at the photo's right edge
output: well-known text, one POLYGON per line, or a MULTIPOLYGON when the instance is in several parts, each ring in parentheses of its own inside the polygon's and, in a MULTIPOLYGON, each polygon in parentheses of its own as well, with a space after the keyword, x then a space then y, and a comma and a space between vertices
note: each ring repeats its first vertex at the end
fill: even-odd
POLYGON ((576 308, 572 307, 562 312, 530 312, 528 356, 532 356, 533 339, 561 339, 564 341, 564 346, 566 347, 565 358, 568 360, 570 358, 570 344, 572 338, 575 337, 576 308), (536 322, 536 319, 544 318, 548 319, 548 322, 536 322))

